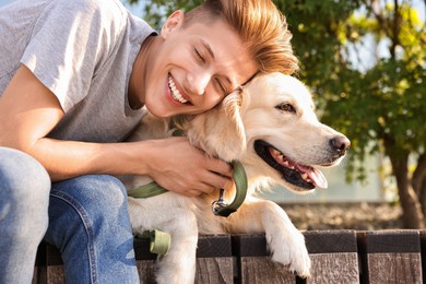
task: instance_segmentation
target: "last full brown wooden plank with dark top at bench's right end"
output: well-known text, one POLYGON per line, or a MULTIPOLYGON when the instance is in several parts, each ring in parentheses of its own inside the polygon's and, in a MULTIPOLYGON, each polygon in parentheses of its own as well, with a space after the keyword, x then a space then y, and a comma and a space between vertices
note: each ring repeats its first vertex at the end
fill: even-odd
POLYGON ((419 232, 358 232, 363 283, 422 283, 419 232))

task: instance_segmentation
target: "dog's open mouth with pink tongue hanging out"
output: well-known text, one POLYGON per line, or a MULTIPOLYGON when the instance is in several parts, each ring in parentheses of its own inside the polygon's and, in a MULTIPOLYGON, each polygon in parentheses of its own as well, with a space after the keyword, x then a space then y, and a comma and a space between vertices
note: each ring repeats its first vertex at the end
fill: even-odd
POLYGON ((300 190, 328 187, 327 179, 320 170, 289 159, 263 140, 255 142, 255 151, 270 167, 279 171, 285 181, 298 187, 300 190))

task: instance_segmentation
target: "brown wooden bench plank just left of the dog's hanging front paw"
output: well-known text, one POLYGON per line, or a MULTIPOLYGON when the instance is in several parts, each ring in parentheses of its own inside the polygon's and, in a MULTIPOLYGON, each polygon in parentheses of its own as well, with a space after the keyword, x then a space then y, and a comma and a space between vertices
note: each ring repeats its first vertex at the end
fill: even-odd
POLYGON ((274 263, 263 235, 232 236, 233 255, 237 257, 237 282, 241 284, 294 284, 296 276, 274 263))

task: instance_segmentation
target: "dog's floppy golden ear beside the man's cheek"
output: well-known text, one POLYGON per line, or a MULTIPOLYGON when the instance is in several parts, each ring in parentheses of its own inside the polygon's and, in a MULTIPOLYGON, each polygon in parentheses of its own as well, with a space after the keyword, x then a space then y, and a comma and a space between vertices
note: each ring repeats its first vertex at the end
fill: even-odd
POLYGON ((227 95, 213 109, 194 116, 187 129, 191 143, 209 155, 230 162, 246 150, 246 133, 240 116, 241 90, 227 95))

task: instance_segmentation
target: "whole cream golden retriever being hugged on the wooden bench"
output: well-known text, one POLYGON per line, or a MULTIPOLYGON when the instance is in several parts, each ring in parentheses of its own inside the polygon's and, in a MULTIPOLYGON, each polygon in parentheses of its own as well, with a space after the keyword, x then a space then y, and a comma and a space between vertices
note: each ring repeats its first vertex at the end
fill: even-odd
MULTIPOLYGON (((197 198, 170 191, 147 199, 129 198, 134 233, 155 228, 171 236, 168 253, 159 258, 157 282, 194 282, 199 234, 265 234, 272 260, 308 276, 310 259, 303 234, 281 206, 256 197, 272 184, 297 192, 326 188, 327 180, 317 167, 339 164, 350 146, 346 137, 318 121, 305 85, 281 73, 259 75, 212 110, 181 125, 190 142, 208 155, 239 161, 249 188, 242 205, 228 217, 212 213, 217 192, 197 198)), ((169 133, 169 121, 147 115, 130 140, 169 133)), ((133 176, 126 184, 131 189, 149 181, 133 176)), ((233 200, 234 194, 235 187, 225 189, 226 199, 233 200)))

